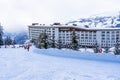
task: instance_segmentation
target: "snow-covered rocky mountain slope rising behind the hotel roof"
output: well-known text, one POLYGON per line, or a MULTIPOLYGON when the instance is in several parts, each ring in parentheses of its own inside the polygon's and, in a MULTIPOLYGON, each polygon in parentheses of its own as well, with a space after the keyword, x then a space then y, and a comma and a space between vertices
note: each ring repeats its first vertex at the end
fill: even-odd
POLYGON ((81 18, 78 20, 70 21, 67 23, 67 25, 87 25, 89 28, 120 28, 120 12, 103 13, 90 16, 89 18, 81 18))

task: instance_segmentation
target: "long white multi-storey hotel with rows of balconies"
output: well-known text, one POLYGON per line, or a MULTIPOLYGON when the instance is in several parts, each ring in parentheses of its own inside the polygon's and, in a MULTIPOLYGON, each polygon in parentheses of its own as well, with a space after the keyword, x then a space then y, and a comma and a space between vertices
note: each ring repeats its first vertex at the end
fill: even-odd
POLYGON ((32 24, 28 26, 29 39, 37 40, 41 33, 46 33, 49 39, 67 45, 71 43, 73 31, 77 37, 79 46, 93 46, 96 43, 100 47, 113 47, 116 42, 120 44, 120 28, 80 28, 68 25, 32 24))

